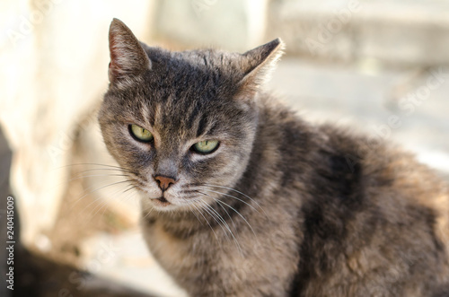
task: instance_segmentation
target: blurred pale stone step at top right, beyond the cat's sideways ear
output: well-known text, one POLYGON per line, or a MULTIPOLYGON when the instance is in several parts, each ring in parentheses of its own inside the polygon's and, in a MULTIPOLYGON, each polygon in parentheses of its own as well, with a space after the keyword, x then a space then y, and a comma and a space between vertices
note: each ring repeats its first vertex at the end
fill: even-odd
POLYGON ((279 0, 269 4, 267 39, 287 53, 401 66, 449 64, 449 2, 279 0))

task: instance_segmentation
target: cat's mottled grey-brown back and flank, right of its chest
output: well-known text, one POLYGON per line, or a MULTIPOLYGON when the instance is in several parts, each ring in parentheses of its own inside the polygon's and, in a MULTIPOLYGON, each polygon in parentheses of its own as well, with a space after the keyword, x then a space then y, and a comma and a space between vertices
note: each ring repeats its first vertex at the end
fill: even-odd
POLYGON ((282 106, 269 103, 262 116, 284 152, 278 169, 291 182, 282 187, 303 201, 294 294, 427 296, 449 282, 449 190, 433 170, 282 106))

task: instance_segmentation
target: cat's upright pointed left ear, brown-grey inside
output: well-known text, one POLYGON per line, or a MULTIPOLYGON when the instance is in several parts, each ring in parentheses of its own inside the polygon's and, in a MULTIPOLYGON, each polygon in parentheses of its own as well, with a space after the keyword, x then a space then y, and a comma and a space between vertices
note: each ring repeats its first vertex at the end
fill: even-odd
POLYGON ((110 83, 118 82, 151 69, 144 48, 125 23, 113 19, 110 23, 110 83))

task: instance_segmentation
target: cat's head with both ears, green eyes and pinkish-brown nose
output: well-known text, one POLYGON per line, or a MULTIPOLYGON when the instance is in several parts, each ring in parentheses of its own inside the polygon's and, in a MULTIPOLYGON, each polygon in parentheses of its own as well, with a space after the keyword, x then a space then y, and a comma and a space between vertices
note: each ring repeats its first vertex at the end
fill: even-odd
POLYGON ((101 133, 146 207, 188 209, 242 179, 258 127, 258 89, 280 48, 275 39, 244 54, 172 52, 147 47, 112 21, 101 133))

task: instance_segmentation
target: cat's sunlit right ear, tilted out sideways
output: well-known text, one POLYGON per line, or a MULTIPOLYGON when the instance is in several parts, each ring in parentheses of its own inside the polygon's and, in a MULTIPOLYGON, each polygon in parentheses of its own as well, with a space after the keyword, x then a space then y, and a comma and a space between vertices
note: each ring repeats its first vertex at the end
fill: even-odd
POLYGON ((251 94, 257 92, 260 85, 269 80, 269 74, 282 56, 283 49, 284 42, 281 39, 274 39, 242 54, 243 78, 240 82, 240 91, 251 94))

